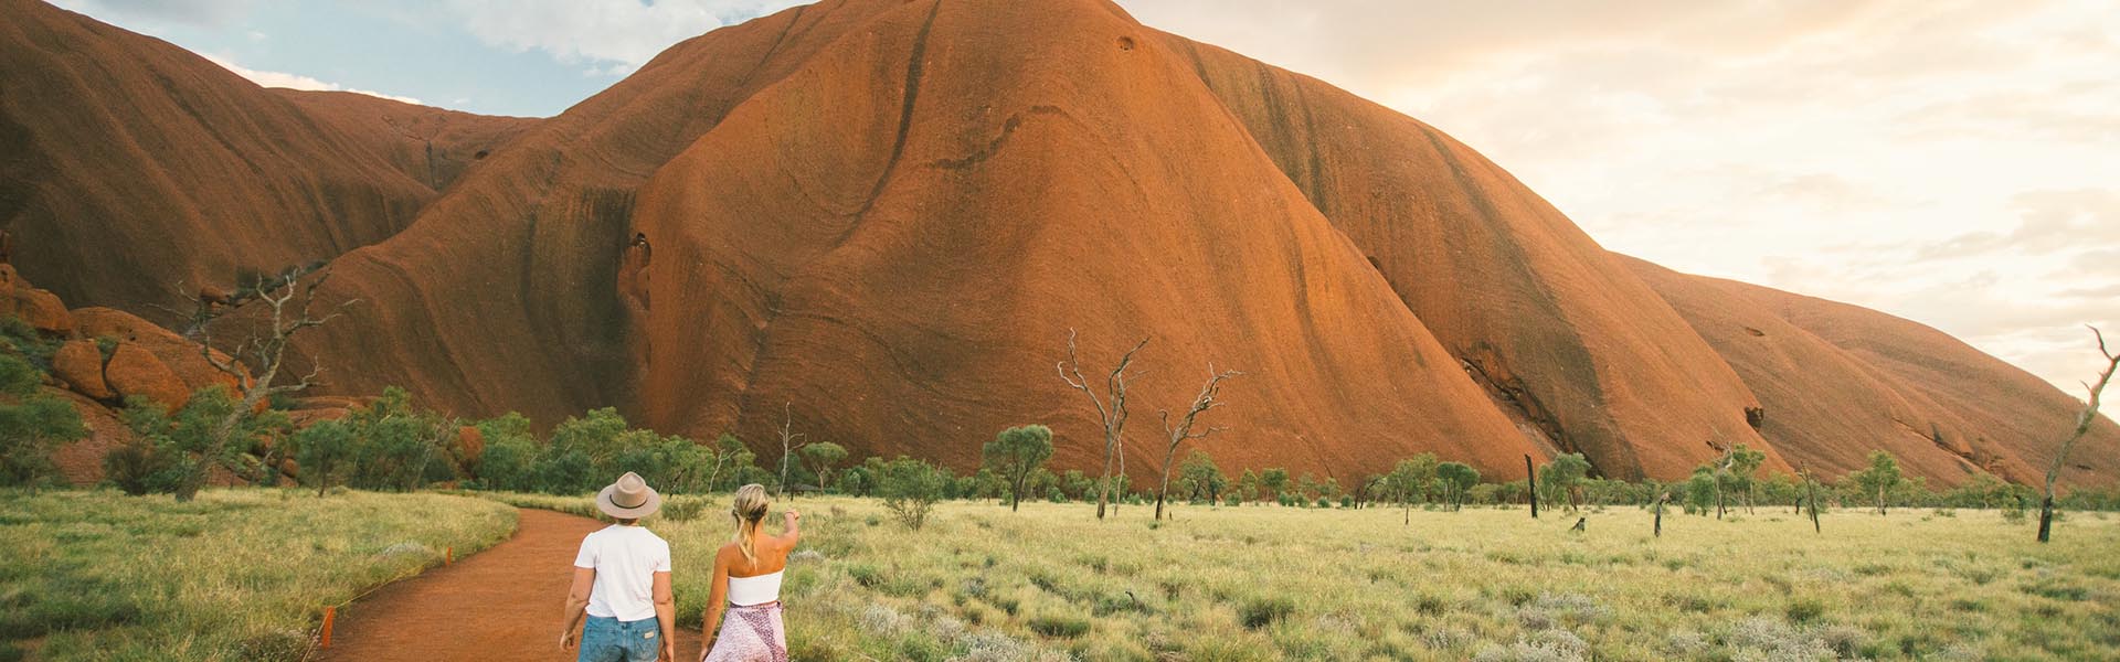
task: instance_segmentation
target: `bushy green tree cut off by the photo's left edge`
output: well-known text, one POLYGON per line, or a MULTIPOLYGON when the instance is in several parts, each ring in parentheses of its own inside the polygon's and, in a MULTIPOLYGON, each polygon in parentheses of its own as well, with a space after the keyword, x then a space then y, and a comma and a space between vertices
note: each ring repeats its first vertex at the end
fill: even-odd
POLYGON ((11 486, 28 486, 36 496, 38 486, 59 473, 51 454, 59 443, 89 435, 81 424, 74 405, 45 395, 38 386, 45 373, 15 354, 0 354, 0 395, 13 403, 0 405, 0 480, 11 486))

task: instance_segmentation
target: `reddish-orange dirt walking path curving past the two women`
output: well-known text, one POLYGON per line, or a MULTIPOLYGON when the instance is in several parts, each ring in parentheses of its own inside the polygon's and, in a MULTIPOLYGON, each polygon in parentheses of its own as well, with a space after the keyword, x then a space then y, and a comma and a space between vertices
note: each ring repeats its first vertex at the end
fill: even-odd
MULTIPOLYGON (((515 537, 452 567, 384 586, 339 609, 326 662, 575 660, 560 649, 560 609, 581 537, 602 522, 522 509, 515 537)), ((700 630, 678 628, 678 660, 700 658, 700 630)))

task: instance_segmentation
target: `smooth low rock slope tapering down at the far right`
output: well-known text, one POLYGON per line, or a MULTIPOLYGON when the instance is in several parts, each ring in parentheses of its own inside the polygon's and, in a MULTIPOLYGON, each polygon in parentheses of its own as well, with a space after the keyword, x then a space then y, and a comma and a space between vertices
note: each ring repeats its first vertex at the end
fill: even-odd
MULTIPOLYGON (((2039 378, 1919 323, 1622 261, 1760 393, 1766 439, 1821 475, 1861 469, 1883 448, 1931 482, 1986 471, 2037 484, 2082 412, 2039 378)), ((2116 456, 2120 426, 2101 418, 2061 477, 2112 484, 2116 456)))

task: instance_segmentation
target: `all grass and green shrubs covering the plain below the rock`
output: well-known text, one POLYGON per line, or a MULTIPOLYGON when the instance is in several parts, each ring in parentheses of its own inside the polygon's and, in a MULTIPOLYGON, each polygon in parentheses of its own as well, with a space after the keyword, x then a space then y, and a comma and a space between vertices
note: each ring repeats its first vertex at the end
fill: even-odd
POLYGON ((808 513, 787 583, 797 660, 2120 658, 2105 513, 2120 492, 2069 492, 2042 545, 2029 486, 1931 490, 1883 452, 1794 477, 1734 446, 1685 480, 1615 482, 1577 454, 1535 480, 1433 454, 1321 477, 1223 471, 1174 443, 1147 488, 1045 467, 1037 424, 999 431, 986 467, 958 473, 793 433, 661 435, 615 410, 536 433, 396 388, 297 429, 284 403, 204 390, 123 412, 138 441, 106 458, 119 490, 38 494, 55 443, 83 431, 38 399, 34 346, 13 356, 0 662, 299 660, 322 605, 505 539, 494 501, 594 516, 581 494, 623 471, 668 494, 649 524, 678 550, 689 626, 729 535, 721 494, 759 482, 797 499, 782 501, 808 513), (199 492, 214 471, 305 488, 199 492), (492 501, 360 492, 437 488, 492 501), (1151 518, 1158 499, 1172 518, 1151 518))

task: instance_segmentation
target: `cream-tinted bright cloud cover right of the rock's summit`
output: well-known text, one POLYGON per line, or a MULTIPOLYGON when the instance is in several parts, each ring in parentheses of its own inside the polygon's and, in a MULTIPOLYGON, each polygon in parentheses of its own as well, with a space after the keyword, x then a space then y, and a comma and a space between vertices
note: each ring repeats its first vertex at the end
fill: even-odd
POLYGON ((1450 132, 1626 255, 2054 384, 2120 314, 2107 2, 1119 2, 1450 132))

